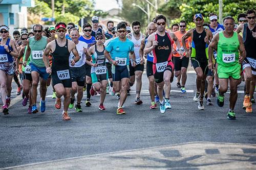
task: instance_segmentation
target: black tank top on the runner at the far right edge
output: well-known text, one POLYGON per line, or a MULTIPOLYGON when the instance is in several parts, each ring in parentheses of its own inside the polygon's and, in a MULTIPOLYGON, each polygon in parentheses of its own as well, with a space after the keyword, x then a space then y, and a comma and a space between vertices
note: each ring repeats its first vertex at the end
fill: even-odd
POLYGON ((246 57, 256 59, 256 39, 252 36, 252 32, 256 32, 256 26, 252 30, 246 27, 246 37, 244 41, 244 46, 246 50, 246 57))

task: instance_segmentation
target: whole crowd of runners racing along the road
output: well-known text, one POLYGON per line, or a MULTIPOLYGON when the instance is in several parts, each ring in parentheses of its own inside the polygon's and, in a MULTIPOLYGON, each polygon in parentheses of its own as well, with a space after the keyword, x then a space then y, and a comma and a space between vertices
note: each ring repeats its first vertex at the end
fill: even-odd
POLYGON ((160 112, 165 113, 172 108, 170 89, 174 76, 181 93, 186 93, 189 58, 196 71, 193 100, 199 110, 204 110, 204 98, 206 105, 213 105, 211 97, 216 95, 218 106, 223 107, 224 94, 229 87, 227 118, 236 119, 237 87, 245 81, 243 108, 251 113, 256 81, 255 11, 239 14, 238 25, 231 16, 225 17, 220 25, 215 13, 209 14, 209 24, 204 23, 202 14, 195 14, 193 20, 196 25, 193 29, 186 30, 186 21, 181 20, 168 30, 166 17, 157 15, 148 23, 146 35, 141 33, 139 21, 133 21, 131 26, 125 21, 114 26, 110 20, 104 32, 97 16, 92 17, 92 24, 82 26, 83 35, 72 22, 58 22, 55 27, 45 29, 35 24, 32 32, 24 28, 14 31, 13 35, 9 34, 8 26, 2 25, 0 93, 3 113, 9 114, 14 78, 16 94, 23 95, 22 105, 28 105, 29 114, 46 111, 50 85, 56 109, 63 105, 63 120, 70 119, 68 109, 74 106, 76 112, 82 112, 83 91, 87 92, 87 107, 92 105, 91 97, 100 94, 99 110, 106 110, 107 93, 116 94, 119 100, 116 114, 125 114, 123 105, 134 84, 135 104, 143 103, 140 92, 144 67, 149 82, 150 109, 156 109, 159 103, 160 112))

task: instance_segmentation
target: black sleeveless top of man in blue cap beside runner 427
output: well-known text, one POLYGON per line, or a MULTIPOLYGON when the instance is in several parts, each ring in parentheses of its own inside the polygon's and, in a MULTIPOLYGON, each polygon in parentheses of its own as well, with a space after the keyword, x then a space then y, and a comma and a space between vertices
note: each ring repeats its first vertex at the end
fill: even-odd
MULTIPOLYGON (((206 42, 204 42, 204 38, 206 37, 206 31, 205 29, 203 30, 202 33, 198 33, 196 29, 193 31, 193 42, 194 42, 194 47, 196 50, 196 60, 198 61, 204 61, 207 62, 207 56, 205 52, 205 48, 208 46, 206 42)), ((194 57, 194 56, 191 56, 194 57)))

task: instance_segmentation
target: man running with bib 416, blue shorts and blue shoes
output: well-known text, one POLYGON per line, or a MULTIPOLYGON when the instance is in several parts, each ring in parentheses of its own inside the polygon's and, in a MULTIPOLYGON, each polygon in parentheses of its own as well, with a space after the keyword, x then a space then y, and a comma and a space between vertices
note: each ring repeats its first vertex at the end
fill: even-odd
POLYGON ((26 58, 23 62, 24 67, 28 64, 30 57, 29 66, 31 67, 32 77, 32 88, 31 88, 31 100, 32 100, 32 113, 37 113, 36 98, 37 98, 37 86, 40 78, 40 111, 45 112, 46 110, 46 84, 48 74, 44 61, 42 60, 42 53, 46 48, 46 45, 51 41, 49 38, 42 36, 42 26, 39 24, 34 25, 33 32, 35 36, 28 39, 26 58))

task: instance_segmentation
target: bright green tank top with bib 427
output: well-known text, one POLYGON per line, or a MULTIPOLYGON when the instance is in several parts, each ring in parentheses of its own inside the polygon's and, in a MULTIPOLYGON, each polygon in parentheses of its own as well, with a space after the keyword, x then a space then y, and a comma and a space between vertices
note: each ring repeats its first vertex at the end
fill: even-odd
POLYGON ((217 63, 219 65, 230 67, 239 63, 239 40, 237 32, 233 36, 226 38, 223 32, 219 33, 217 63))

